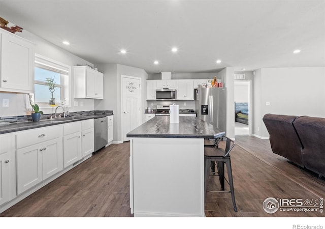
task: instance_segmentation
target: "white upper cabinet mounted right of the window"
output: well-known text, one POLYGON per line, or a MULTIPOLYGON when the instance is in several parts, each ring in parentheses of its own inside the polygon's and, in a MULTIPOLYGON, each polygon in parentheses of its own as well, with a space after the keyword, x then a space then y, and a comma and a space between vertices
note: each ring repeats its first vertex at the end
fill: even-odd
POLYGON ((75 66, 75 98, 103 99, 104 74, 86 66, 75 66))

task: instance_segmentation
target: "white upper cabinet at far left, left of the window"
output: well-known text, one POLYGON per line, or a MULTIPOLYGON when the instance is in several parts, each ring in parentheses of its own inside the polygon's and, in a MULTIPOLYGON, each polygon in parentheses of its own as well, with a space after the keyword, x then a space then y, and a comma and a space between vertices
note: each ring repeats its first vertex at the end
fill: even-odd
POLYGON ((0 29, 0 91, 34 93, 34 45, 0 29))

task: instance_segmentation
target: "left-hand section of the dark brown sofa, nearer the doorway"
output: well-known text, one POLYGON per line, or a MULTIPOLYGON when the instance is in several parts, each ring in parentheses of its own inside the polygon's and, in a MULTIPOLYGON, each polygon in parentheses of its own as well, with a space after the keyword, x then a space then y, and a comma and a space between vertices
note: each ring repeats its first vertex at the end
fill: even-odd
POLYGON ((303 146, 293 125, 297 117, 268 113, 263 117, 263 122, 270 134, 273 153, 304 167, 302 159, 303 146))

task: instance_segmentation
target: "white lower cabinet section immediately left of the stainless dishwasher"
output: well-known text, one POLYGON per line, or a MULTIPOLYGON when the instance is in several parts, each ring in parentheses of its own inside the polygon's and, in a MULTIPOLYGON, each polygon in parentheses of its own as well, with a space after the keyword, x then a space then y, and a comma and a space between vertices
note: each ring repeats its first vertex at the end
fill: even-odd
POLYGON ((82 122, 82 157, 85 157, 94 151, 94 125, 93 119, 82 122))

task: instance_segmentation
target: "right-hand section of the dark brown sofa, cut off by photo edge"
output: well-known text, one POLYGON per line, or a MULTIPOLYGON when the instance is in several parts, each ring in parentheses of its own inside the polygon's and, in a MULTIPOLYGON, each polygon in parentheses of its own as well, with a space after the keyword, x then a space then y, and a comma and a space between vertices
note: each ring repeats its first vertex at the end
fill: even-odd
POLYGON ((325 176, 325 119, 301 116, 294 122, 304 149, 305 167, 325 176))

